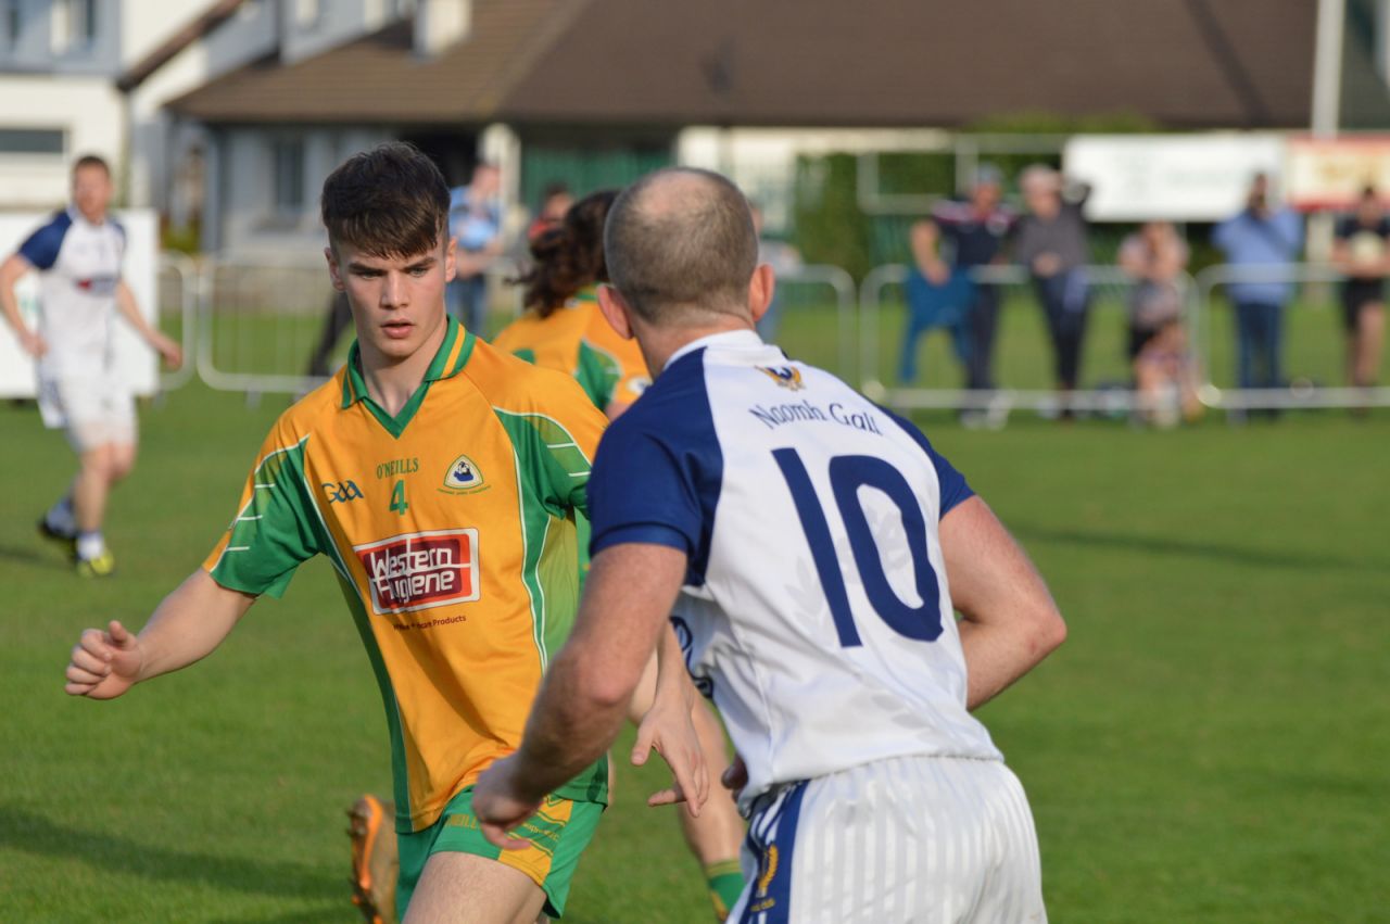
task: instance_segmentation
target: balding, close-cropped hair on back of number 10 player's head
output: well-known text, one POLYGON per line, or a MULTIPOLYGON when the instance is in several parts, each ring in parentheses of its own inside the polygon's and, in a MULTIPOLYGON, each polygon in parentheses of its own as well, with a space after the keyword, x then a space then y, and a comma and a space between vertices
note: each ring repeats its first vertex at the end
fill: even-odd
POLYGON ((628 186, 609 211, 603 235, 609 277, 646 321, 671 311, 737 314, 758 268, 758 235, 748 199, 708 170, 669 167, 628 186), (674 201, 652 201, 659 183, 674 201))

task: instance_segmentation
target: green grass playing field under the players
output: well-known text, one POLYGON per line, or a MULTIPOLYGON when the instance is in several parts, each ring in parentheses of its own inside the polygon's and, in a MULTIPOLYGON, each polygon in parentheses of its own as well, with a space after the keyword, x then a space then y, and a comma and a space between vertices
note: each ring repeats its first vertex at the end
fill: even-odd
MULTIPOLYGON (((111 507, 120 574, 97 584, 33 534, 63 439, 0 409, 0 920, 354 920, 342 809, 388 789, 388 759, 327 563, 192 670, 113 703, 61 691, 83 627, 142 624, 197 566, 282 406, 195 383, 146 409, 111 507)), ((1069 620, 983 710, 1033 802, 1052 920, 1387 920, 1390 414, 922 420, 1069 620)), ((656 782, 623 768, 567 920, 710 920, 674 821, 642 806, 656 782)))

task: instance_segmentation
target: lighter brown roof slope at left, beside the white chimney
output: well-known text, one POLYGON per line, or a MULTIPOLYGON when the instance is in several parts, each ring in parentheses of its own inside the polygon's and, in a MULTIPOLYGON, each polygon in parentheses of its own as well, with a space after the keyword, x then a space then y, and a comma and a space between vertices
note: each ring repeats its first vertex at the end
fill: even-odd
POLYGON ((431 58, 399 22, 296 64, 277 57, 170 103, 206 122, 481 122, 589 0, 475 0, 466 42, 431 58))

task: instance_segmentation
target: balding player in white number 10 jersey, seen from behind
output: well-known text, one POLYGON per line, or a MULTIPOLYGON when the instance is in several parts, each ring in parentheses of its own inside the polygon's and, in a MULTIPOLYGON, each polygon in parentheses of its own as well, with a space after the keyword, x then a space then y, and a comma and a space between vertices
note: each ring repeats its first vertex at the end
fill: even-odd
POLYGON ((612 741, 673 613, 746 777, 730 920, 1044 921, 1027 799, 970 716, 1065 638, 1041 578, 910 422, 753 333, 773 278, 728 181, 644 178, 606 251, 605 315, 660 372, 599 445, 589 584, 485 830, 612 741))

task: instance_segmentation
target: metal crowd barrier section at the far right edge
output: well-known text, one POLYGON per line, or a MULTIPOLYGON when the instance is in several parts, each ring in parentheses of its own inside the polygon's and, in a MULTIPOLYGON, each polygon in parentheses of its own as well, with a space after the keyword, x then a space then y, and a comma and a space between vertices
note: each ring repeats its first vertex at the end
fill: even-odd
MULTIPOLYGON (((1295 407, 1384 407, 1390 406, 1390 388, 1351 388, 1340 385, 1346 377, 1346 345, 1341 328, 1340 283, 1346 277, 1327 264, 1284 264, 1284 265, 1215 265, 1197 274, 1204 327, 1204 342, 1208 353, 1204 357, 1207 370, 1212 371, 1202 389, 1202 402, 1211 407, 1227 410, 1254 409, 1295 409, 1295 407), (1283 338, 1283 381, 1273 388, 1240 388, 1234 383, 1234 363, 1212 354, 1211 345, 1218 339, 1216 318, 1229 313, 1230 299, 1219 299, 1218 292, 1241 283, 1289 283, 1301 288, 1298 297, 1290 299, 1283 308, 1282 325, 1287 331, 1283 338), (1320 328, 1320 331, 1319 331, 1320 328), (1319 353, 1309 350, 1314 338, 1326 339, 1329 328, 1336 329, 1334 346, 1319 353), (1333 385, 1332 382, 1339 382, 1333 385)), ((1234 318, 1229 321, 1234 329, 1234 318)), ((1380 360, 1384 374, 1386 361, 1380 360)))

